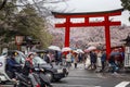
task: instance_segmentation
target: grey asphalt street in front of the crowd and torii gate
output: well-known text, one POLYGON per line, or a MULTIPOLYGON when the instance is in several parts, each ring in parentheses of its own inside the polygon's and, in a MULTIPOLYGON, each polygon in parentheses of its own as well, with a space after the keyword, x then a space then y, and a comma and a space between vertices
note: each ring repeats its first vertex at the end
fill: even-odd
MULTIPOLYGON (((52 83, 53 87, 130 87, 129 73, 114 75, 112 73, 96 73, 83 69, 82 64, 78 69, 72 67, 69 75, 57 83, 52 83)), ((3 85, 1 87, 13 87, 3 85)))

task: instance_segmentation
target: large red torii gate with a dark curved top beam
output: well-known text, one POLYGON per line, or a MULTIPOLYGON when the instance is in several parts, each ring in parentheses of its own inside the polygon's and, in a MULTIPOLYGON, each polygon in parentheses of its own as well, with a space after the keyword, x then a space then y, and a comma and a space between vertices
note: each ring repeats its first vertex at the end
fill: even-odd
POLYGON ((110 34, 109 26, 120 25, 121 22, 112 22, 109 16, 121 15, 123 9, 104 11, 104 12, 90 12, 90 13, 58 13, 52 12, 56 18, 66 18, 65 23, 55 24, 55 27, 65 27, 65 47, 69 47, 69 30, 70 27, 82 26, 104 26, 105 27, 105 40, 106 40, 106 54, 110 53, 110 34), (84 18, 84 23, 72 23, 70 18, 84 18), (104 17, 102 22, 89 22, 90 17, 104 17))

